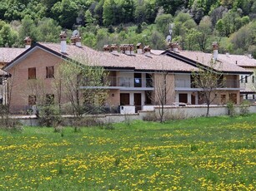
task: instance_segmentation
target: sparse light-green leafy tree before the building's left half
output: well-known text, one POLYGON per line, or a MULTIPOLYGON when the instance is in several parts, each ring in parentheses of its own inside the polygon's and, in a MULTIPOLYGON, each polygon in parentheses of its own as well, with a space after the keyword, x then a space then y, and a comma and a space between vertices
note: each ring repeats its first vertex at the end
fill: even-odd
POLYGON ((73 115, 94 114, 103 106, 108 90, 103 86, 108 73, 103 67, 94 65, 88 58, 78 58, 78 62, 63 61, 58 66, 54 87, 58 95, 58 104, 68 100, 73 115))

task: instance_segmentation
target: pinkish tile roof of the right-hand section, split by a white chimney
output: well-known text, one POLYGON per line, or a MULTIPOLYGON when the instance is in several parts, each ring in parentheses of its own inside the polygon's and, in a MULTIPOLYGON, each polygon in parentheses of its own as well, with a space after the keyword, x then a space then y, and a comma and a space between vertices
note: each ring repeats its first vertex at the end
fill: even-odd
MULTIPOLYGON (((189 59, 193 61, 198 61, 199 63, 202 63, 205 66, 208 66, 208 62, 212 59, 213 54, 211 53, 204 53, 202 51, 179 51, 177 53, 178 55, 188 57, 189 59)), ((244 72, 246 71, 240 65, 236 64, 236 61, 238 63, 245 63, 243 62, 245 60, 245 56, 236 56, 236 55, 230 55, 226 56, 224 54, 218 54, 217 59, 217 69, 218 71, 223 72, 244 72), (241 60, 238 58, 241 58, 241 60), (243 58, 243 59, 242 59, 243 58)), ((253 61, 253 59, 249 59, 248 61, 253 61)), ((255 62, 255 61, 254 61, 255 62)), ((253 63, 253 62, 252 62, 253 63)), ((256 64, 256 63, 255 63, 256 64)))

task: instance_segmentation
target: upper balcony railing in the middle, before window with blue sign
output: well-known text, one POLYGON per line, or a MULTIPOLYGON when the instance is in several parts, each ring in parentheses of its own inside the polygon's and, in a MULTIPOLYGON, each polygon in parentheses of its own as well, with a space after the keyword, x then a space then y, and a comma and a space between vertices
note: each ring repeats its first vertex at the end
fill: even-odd
POLYGON ((153 87, 151 78, 130 78, 130 77, 114 77, 108 76, 104 79, 108 82, 108 86, 121 87, 153 87))

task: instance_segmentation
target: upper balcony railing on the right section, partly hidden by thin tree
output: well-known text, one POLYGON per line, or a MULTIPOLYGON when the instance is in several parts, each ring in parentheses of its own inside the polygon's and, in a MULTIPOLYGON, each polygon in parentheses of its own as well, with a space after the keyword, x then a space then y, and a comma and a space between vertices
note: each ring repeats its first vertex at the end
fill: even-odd
MULTIPOLYGON (((196 88, 190 80, 177 79, 175 80, 175 87, 182 88, 196 88)), ((219 88, 239 88, 239 81, 226 80, 223 83, 220 83, 219 88), (222 85, 222 86, 221 86, 222 85)))

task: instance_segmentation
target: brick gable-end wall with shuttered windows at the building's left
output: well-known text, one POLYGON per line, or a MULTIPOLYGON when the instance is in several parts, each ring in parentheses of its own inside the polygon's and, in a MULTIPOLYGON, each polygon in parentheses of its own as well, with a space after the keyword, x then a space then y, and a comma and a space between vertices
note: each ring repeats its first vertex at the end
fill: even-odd
POLYGON ((58 63, 61 61, 59 57, 38 49, 26 57, 26 59, 20 61, 18 65, 13 66, 13 68, 8 71, 12 74, 13 80, 10 100, 11 109, 28 105, 28 68, 36 67, 36 78, 43 81, 45 87, 47 87, 46 93, 53 94, 52 82, 54 79, 46 78, 46 66, 54 66, 55 72, 56 66, 58 66, 58 63))

